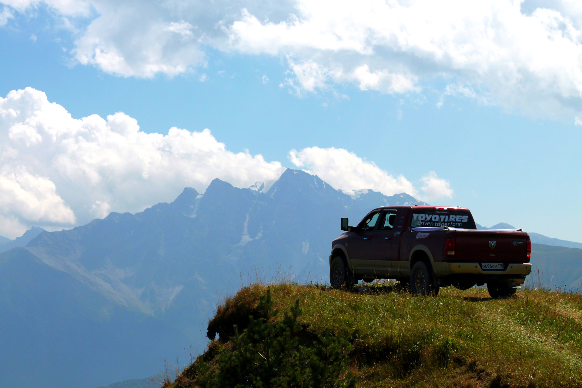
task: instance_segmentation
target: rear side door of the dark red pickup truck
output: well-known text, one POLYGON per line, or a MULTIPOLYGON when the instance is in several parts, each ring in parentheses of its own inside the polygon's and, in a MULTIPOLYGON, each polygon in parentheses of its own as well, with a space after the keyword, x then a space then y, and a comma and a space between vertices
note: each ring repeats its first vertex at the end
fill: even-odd
MULTIPOLYGON (((394 239, 396 210, 385 210, 380 216, 378 227, 370 244, 370 264, 374 270, 388 278, 398 275, 398 255, 393 257, 392 244, 394 239)), ((399 237, 399 236, 398 236, 399 237)))

